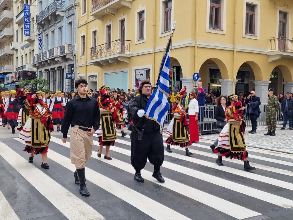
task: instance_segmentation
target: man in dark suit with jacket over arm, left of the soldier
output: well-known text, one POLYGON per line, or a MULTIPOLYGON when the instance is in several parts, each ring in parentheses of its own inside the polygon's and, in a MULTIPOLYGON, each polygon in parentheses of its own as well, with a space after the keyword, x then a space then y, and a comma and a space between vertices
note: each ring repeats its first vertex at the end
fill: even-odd
POLYGON ((256 133, 256 126, 257 122, 256 119, 259 117, 260 114, 260 98, 255 96, 255 91, 251 91, 250 95, 245 100, 245 104, 248 104, 248 115, 251 121, 252 130, 248 131, 249 133, 255 134, 256 133))

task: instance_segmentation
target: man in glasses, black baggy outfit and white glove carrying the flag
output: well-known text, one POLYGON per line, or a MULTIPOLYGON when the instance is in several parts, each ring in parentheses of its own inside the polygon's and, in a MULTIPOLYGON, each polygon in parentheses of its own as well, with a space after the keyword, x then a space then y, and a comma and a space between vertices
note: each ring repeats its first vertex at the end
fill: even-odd
POLYGON ((149 162, 154 165, 153 177, 159 182, 165 182, 160 173, 160 167, 164 161, 163 136, 161 127, 153 120, 144 116, 153 87, 149 80, 142 80, 139 85, 139 94, 130 102, 132 115, 131 137, 131 165, 135 169, 134 180, 144 182, 140 171, 149 162))

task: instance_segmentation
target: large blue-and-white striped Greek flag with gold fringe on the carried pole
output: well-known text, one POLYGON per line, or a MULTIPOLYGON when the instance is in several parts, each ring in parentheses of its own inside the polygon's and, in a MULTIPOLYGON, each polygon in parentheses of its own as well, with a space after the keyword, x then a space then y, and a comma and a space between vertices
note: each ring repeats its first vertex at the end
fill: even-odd
POLYGON ((168 39, 168 44, 162 59, 156 89, 149 98, 147 108, 144 112, 144 116, 148 119, 156 121, 161 126, 161 132, 163 132, 164 123, 169 110, 167 96, 169 96, 171 38, 172 37, 168 39))

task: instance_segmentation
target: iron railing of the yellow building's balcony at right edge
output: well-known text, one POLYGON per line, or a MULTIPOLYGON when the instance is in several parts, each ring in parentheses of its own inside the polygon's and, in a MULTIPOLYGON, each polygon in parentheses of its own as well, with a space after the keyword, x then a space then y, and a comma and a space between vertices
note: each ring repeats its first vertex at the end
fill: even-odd
POLYGON ((268 39, 269 50, 282 50, 293 52, 293 38, 274 37, 268 39))

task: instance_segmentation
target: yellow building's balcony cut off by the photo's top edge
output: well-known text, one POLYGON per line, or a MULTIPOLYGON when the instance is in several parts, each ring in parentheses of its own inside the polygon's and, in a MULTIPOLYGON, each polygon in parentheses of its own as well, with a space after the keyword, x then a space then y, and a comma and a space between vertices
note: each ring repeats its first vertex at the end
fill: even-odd
POLYGON ((121 7, 131 8, 133 0, 91 0, 92 3, 92 11, 90 15, 94 18, 103 21, 104 16, 116 15, 117 10, 121 7))

